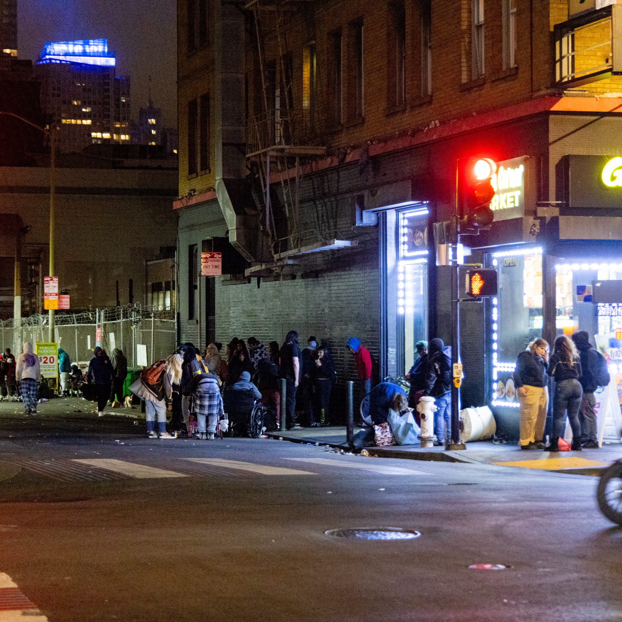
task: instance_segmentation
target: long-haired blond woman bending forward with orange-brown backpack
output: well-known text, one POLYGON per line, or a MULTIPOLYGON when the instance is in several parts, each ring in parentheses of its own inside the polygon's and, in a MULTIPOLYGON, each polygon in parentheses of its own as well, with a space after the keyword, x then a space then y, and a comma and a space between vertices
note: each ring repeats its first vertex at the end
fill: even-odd
POLYGON ((173 385, 182 379, 183 356, 172 354, 145 369, 139 383, 131 386, 132 392, 145 401, 147 435, 150 439, 173 439, 166 431, 166 411, 172 410, 173 385), (138 386, 136 386, 138 385, 138 386), (158 432, 156 432, 156 414, 158 432))

